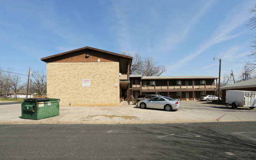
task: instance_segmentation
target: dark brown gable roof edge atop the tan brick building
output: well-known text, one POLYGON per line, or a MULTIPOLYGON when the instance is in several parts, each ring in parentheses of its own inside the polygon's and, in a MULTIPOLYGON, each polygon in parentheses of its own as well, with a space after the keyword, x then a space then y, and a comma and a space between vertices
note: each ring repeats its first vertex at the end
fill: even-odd
POLYGON ((133 57, 130 57, 130 56, 125 56, 125 55, 121 55, 121 54, 118 54, 118 53, 114 53, 114 52, 109 52, 109 51, 104 51, 104 50, 101 50, 101 49, 97 49, 97 48, 92 48, 92 47, 82 47, 82 48, 78 48, 78 49, 74 49, 72 51, 67 51, 67 52, 63 52, 63 53, 59 53, 59 54, 56 54, 56 55, 52 55, 52 56, 47 56, 47 57, 44 57, 44 58, 41 58, 42 61, 46 62, 48 59, 50 58, 54 58, 54 57, 57 57, 57 56, 62 56, 62 55, 67 55, 69 53, 73 53, 73 52, 76 52, 76 51, 81 51, 83 49, 92 49, 92 50, 95 50, 95 51, 100 51, 100 52, 103 52, 103 53, 107 53, 107 54, 110 54, 110 55, 116 55, 116 56, 120 56, 120 57, 123 57, 123 58, 128 58, 130 60, 133 59, 133 57))

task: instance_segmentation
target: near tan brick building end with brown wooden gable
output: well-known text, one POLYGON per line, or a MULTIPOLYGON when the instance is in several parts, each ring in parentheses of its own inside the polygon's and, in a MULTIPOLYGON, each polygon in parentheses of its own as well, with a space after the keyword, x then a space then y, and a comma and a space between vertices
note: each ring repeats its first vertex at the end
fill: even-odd
POLYGON ((47 97, 60 105, 118 106, 129 100, 132 57, 83 47, 41 58, 46 62, 47 97))

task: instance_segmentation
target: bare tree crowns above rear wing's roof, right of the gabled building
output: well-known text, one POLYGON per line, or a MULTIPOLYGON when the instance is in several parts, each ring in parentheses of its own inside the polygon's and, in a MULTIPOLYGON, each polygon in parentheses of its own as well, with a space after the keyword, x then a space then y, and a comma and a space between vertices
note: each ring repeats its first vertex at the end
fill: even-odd
POLYGON ((157 65, 157 62, 153 60, 152 57, 146 57, 142 59, 138 53, 135 53, 134 55, 123 51, 120 53, 127 56, 133 56, 133 62, 130 71, 131 75, 160 76, 167 71, 164 65, 157 65))

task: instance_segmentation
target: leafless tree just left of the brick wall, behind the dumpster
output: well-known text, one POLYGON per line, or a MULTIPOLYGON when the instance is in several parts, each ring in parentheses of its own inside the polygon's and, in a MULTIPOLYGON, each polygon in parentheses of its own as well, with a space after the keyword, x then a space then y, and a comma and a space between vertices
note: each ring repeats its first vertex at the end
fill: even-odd
POLYGON ((32 84, 35 85, 35 89, 38 93, 40 93, 41 97, 46 93, 46 75, 44 71, 39 73, 38 71, 32 72, 32 84))

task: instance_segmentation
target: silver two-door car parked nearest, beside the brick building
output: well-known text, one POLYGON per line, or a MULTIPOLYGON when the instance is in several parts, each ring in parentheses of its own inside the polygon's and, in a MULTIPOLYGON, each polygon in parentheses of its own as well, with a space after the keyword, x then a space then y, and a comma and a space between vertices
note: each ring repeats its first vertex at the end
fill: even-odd
POLYGON ((170 97, 154 97, 149 100, 142 100, 138 102, 138 106, 142 109, 145 108, 160 108, 165 111, 172 111, 181 107, 180 100, 174 100, 170 97))

